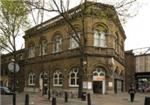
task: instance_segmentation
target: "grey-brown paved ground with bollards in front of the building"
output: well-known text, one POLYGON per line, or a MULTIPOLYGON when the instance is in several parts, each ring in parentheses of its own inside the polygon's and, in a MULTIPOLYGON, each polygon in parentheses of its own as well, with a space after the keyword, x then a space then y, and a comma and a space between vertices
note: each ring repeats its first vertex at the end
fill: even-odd
MULTIPOLYGON (((25 94, 17 94, 16 105, 25 105, 25 94)), ((52 105, 51 99, 48 100, 47 96, 42 96, 40 93, 28 93, 29 105, 52 105)), ((145 97, 150 97, 150 93, 136 93, 134 102, 130 102, 128 93, 118 94, 92 94, 91 105, 144 105, 145 97)), ((13 105, 12 96, 1 95, 0 105, 13 105)), ((88 105, 87 100, 81 101, 78 98, 69 98, 68 102, 64 102, 64 98, 56 97, 56 105, 88 105)), ((148 104, 150 105, 150 103, 148 104)))

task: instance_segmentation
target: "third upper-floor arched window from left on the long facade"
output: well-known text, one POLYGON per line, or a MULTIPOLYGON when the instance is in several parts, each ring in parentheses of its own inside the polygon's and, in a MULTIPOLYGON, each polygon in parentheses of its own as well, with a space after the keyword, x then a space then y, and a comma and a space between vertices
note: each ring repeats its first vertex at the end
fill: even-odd
POLYGON ((53 39, 53 53, 62 51, 62 37, 57 35, 53 39))

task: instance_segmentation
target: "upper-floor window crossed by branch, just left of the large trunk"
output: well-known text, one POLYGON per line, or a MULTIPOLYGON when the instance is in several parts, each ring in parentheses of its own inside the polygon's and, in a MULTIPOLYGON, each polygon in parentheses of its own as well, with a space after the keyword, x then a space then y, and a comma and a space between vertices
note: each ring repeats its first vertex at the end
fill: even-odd
MULTIPOLYGON (((78 32, 78 36, 80 37, 80 33, 78 32)), ((79 44, 78 42, 75 40, 79 40, 77 35, 75 33, 72 33, 72 35, 70 36, 70 49, 74 49, 74 48, 78 48, 79 44)))

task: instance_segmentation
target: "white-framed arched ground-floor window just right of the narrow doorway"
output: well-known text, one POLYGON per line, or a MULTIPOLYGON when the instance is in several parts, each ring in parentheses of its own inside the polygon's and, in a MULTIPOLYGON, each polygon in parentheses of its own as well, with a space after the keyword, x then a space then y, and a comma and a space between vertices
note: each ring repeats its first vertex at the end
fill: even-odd
POLYGON ((53 86, 62 86, 63 74, 59 71, 54 72, 53 74, 53 86))

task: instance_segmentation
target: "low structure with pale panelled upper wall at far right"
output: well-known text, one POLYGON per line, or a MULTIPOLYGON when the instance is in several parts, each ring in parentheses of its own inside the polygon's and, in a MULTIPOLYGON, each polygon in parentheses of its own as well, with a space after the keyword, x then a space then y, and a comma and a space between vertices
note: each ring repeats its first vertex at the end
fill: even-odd
POLYGON ((126 79, 128 82, 135 83, 137 90, 150 91, 150 48, 139 48, 126 52, 126 79), (131 56, 129 56, 131 55, 131 56), (130 76, 129 76, 130 75, 130 76))

